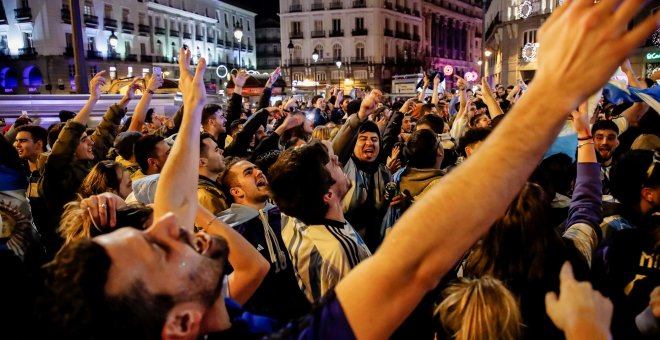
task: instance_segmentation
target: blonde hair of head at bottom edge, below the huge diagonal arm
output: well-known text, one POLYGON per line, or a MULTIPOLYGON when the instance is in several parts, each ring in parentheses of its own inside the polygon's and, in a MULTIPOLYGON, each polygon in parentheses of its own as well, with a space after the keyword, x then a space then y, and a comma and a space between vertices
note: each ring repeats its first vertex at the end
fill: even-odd
POLYGON ((456 340, 497 340, 520 337, 522 317, 518 302, 493 277, 460 279, 447 287, 435 309, 443 327, 456 340))

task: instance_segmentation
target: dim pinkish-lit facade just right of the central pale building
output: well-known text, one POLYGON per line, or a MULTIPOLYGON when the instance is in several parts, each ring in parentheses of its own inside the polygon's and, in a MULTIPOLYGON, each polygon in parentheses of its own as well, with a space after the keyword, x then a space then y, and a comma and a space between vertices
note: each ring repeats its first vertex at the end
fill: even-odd
POLYGON ((451 65, 458 75, 481 74, 483 2, 424 0, 422 13, 426 64, 436 70, 451 65))

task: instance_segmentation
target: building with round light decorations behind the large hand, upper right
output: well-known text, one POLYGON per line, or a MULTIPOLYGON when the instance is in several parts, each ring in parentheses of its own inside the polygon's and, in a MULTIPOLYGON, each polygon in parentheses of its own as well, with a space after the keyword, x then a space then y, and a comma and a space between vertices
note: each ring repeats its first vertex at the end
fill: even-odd
MULTIPOLYGON (((537 41, 538 29, 560 0, 492 0, 484 18, 484 75, 493 84, 513 85, 518 79, 530 80, 538 68, 536 54, 543 48, 537 41)), ((641 21, 660 6, 647 5, 633 20, 641 21)), ((649 39, 631 56, 638 75, 649 76, 660 68, 660 48, 649 39)))

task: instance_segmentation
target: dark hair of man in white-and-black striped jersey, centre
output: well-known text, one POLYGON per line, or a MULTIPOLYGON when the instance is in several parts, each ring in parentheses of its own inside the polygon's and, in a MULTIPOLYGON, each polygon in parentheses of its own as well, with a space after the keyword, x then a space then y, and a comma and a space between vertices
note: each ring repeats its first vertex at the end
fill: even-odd
POLYGON ((335 183, 325 165, 328 150, 319 141, 288 149, 270 167, 270 189, 280 210, 305 224, 323 222, 328 205, 323 196, 335 183))

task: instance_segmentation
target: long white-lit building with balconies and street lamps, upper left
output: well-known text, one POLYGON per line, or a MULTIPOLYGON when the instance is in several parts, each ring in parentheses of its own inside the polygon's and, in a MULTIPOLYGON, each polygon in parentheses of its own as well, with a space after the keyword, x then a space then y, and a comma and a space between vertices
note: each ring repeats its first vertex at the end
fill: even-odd
MULTIPOLYGON (((69 3, 2 1, 0 92, 74 91, 69 3)), ((257 66, 256 14, 237 6, 215 0, 80 0, 80 6, 89 75, 108 70, 115 80, 142 76, 159 66, 166 77, 176 79, 184 45, 192 50, 194 62, 207 59, 205 79, 210 84, 218 80, 219 65, 257 66), (240 45, 235 26, 243 30, 240 45)))

